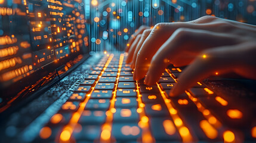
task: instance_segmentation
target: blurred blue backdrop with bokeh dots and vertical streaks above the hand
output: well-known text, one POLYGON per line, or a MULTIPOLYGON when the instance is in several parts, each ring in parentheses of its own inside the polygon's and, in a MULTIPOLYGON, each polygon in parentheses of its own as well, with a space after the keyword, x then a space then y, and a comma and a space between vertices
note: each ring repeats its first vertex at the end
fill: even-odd
POLYGON ((85 0, 92 51, 122 51, 141 25, 213 15, 256 24, 255 0, 85 0))

